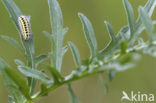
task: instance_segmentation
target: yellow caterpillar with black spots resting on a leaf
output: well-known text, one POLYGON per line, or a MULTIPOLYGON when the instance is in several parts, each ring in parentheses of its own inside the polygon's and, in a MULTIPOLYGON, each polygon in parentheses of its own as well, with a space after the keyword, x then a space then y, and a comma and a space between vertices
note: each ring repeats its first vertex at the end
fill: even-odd
POLYGON ((27 16, 19 16, 18 17, 18 24, 20 31, 22 33, 22 37, 24 40, 30 40, 31 38, 31 29, 30 29, 30 22, 27 16))

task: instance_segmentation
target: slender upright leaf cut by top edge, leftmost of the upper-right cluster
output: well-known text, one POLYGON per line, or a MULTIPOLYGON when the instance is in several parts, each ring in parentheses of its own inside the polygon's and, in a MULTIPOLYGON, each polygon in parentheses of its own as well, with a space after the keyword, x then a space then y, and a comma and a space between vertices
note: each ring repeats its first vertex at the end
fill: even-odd
POLYGON ((133 8, 128 0, 123 0, 123 3, 127 13, 128 25, 130 28, 131 37, 133 37, 135 32, 135 19, 134 19, 133 8))

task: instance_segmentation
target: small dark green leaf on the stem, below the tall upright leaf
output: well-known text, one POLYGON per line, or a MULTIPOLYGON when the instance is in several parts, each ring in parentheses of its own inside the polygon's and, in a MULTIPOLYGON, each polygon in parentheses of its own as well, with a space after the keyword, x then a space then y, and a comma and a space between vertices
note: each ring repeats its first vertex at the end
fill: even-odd
POLYGON ((55 82, 60 82, 63 80, 61 74, 55 69, 54 67, 47 65, 48 70, 50 71, 51 75, 53 76, 55 82))

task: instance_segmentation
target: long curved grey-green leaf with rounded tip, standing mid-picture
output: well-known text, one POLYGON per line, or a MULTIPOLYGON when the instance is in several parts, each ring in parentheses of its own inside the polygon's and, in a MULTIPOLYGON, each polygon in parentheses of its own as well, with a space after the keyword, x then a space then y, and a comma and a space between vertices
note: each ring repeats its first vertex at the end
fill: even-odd
POLYGON ((78 13, 78 15, 79 15, 80 20, 81 20, 82 25, 83 25, 85 38, 86 38, 87 43, 89 45, 91 56, 95 57, 97 55, 98 50, 97 50, 97 42, 96 42, 96 37, 94 34, 92 24, 87 19, 87 17, 84 16, 82 13, 78 13))

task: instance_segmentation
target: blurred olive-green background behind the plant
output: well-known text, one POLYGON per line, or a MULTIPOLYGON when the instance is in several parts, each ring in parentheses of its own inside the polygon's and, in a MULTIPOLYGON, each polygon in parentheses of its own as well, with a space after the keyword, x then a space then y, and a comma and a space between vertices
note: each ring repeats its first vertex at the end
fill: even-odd
MULTIPOLYGON (((31 27, 35 34, 36 55, 50 51, 50 41, 43 35, 42 31, 51 32, 49 23, 49 11, 47 0, 14 0, 25 15, 31 16, 31 27)), ((81 58, 89 56, 89 49, 84 39, 82 25, 77 13, 84 13, 92 22, 98 40, 99 50, 104 48, 109 41, 108 32, 104 20, 109 21, 115 32, 127 24, 126 14, 122 0, 58 0, 62 8, 64 26, 69 27, 65 36, 64 45, 67 41, 73 41, 79 48, 81 58)), ((144 5, 147 0, 129 0, 134 7, 137 17, 138 5, 144 5)), ((153 14, 156 19, 156 11, 153 14)), ((0 35, 7 35, 19 40, 19 34, 14 27, 8 12, 0 1, 0 35)), ((146 32, 142 33, 147 39, 146 32)), ((14 59, 24 60, 19 52, 5 40, 0 38, 0 57, 16 68, 14 59)), ((25 61, 25 60, 24 60, 25 61)), ((48 61, 47 61, 48 62, 48 61)), ((43 66, 40 66, 42 68, 43 66)), ((64 57, 62 74, 69 74, 74 68, 71 52, 68 51, 64 57)), ((110 83, 107 74, 104 78, 109 86, 108 95, 104 94, 103 86, 94 75, 72 83, 72 87, 82 103, 120 103, 122 91, 153 93, 156 95, 156 58, 144 55, 136 68, 117 73, 115 79, 110 83)), ((37 103, 69 103, 67 86, 64 85, 48 96, 41 98, 37 103)), ((0 77, 0 103, 7 103, 7 88, 0 77)))

